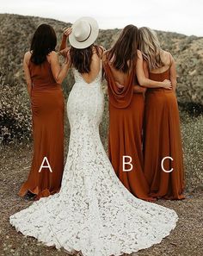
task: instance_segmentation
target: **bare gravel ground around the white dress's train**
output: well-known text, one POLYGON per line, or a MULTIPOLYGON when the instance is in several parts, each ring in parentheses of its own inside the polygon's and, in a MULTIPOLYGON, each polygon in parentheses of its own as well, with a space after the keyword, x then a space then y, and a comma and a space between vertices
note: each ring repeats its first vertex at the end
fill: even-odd
MULTIPOLYGON (((22 182, 27 178, 32 157, 32 145, 18 149, 4 148, 1 152, 1 219, 0 255, 3 256, 68 256, 63 250, 43 246, 31 237, 24 237, 9 225, 9 215, 28 207, 32 202, 17 196, 22 182)), ((187 199, 183 201, 158 201, 175 209, 179 221, 175 230, 163 241, 149 249, 132 255, 139 256, 202 256, 203 255, 203 188, 198 181, 187 180, 187 199), (191 185, 193 187, 191 187, 191 185), (188 189, 189 188, 189 189, 188 189)))

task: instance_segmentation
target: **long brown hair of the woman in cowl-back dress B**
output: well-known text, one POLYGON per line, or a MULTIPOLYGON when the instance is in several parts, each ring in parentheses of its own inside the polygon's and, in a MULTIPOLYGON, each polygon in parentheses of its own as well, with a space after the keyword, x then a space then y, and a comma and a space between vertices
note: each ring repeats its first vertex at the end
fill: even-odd
POLYGON ((127 25, 120 33, 119 39, 108 51, 108 60, 113 59, 113 66, 116 70, 124 73, 135 66, 138 49, 138 28, 134 25, 127 25))

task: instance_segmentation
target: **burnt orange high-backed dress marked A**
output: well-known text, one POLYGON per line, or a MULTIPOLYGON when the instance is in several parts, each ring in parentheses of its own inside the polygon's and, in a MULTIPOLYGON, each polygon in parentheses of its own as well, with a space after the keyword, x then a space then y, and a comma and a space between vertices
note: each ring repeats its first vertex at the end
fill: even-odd
POLYGON ((35 199, 48 197, 58 192, 64 170, 64 97, 61 85, 52 76, 50 63, 41 65, 29 62, 29 71, 33 83, 31 108, 34 134, 34 156, 28 180, 19 191, 24 196, 28 191, 36 195, 35 199), (44 158, 45 165, 40 166, 44 158), (40 172, 39 172, 40 171, 40 172))

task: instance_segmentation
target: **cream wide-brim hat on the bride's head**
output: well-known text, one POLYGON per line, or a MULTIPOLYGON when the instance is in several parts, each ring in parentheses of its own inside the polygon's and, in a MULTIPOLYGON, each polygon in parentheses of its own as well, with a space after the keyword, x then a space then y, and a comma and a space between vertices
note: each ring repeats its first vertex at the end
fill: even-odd
POLYGON ((72 24, 69 42, 72 47, 84 49, 92 45, 99 34, 99 26, 94 18, 82 17, 72 24))

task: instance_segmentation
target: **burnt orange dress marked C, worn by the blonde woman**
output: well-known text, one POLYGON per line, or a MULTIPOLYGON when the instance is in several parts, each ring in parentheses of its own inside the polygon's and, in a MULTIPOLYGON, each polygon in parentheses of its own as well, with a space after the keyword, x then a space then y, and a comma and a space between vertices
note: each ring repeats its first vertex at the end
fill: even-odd
MULTIPOLYGON (((169 69, 162 73, 149 73, 149 78, 155 81, 169 79, 169 69)), ((184 170, 181 131, 174 91, 163 88, 147 89, 144 134, 144 172, 150 184, 151 196, 183 199, 184 170), (163 160, 165 157, 173 160, 163 160)))

